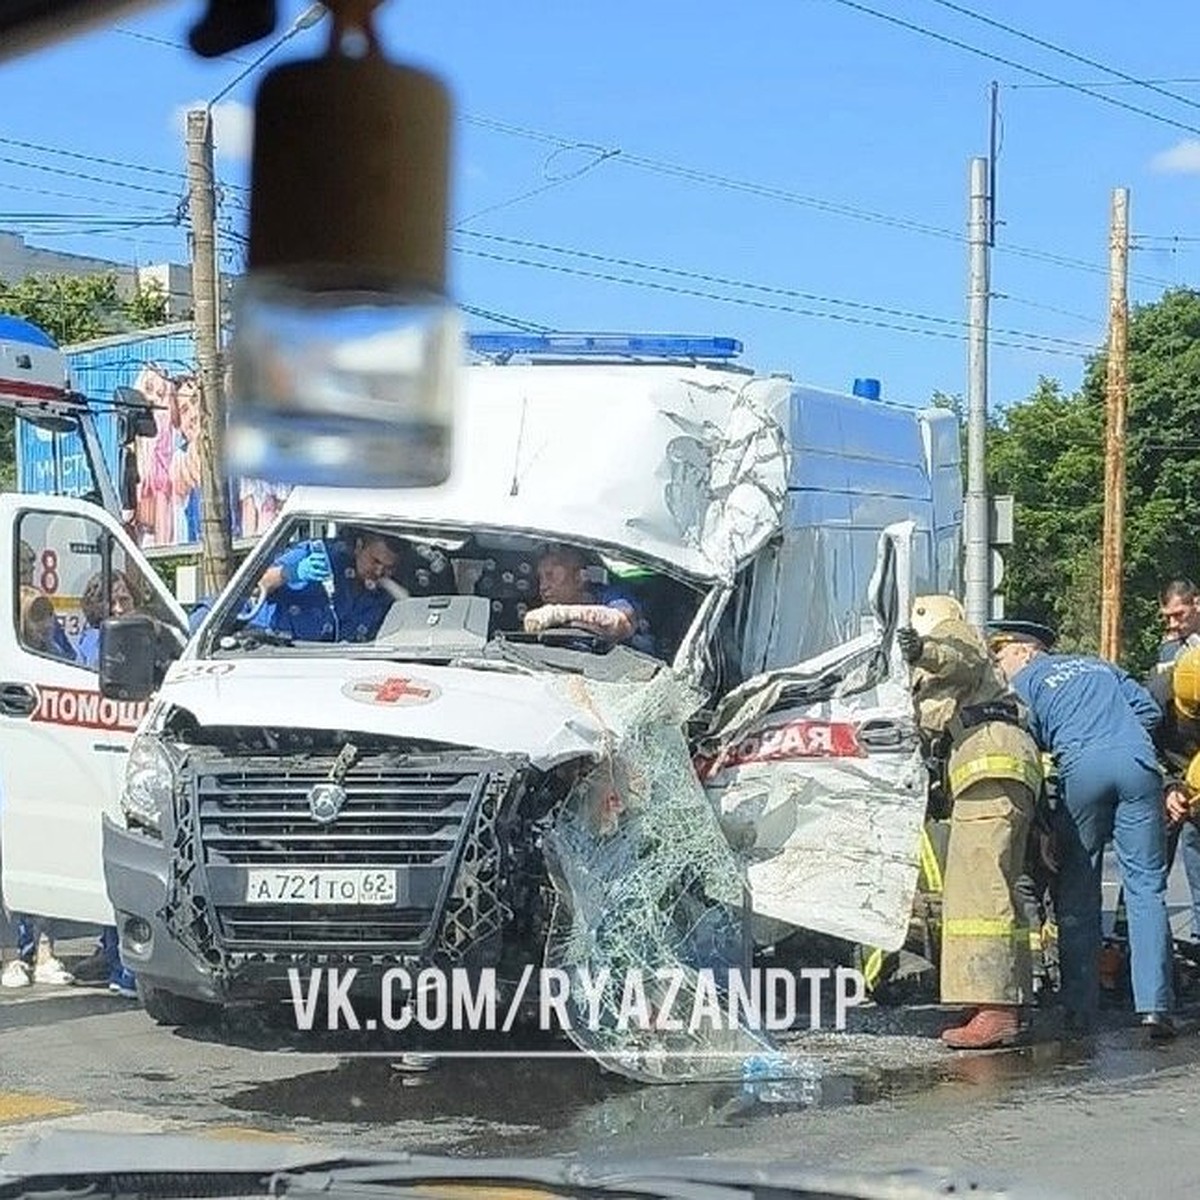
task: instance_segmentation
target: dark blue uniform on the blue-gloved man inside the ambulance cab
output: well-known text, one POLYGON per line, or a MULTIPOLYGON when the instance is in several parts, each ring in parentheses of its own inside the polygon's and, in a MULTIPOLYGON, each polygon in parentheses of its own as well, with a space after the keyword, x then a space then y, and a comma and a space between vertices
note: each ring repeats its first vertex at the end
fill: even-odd
POLYGON ((290 634, 298 642, 371 642, 391 607, 383 588, 364 588, 354 574, 354 552, 343 542, 301 541, 274 566, 294 570, 324 548, 332 568, 332 599, 322 583, 284 583, 263 605, 254 624, 290 634))

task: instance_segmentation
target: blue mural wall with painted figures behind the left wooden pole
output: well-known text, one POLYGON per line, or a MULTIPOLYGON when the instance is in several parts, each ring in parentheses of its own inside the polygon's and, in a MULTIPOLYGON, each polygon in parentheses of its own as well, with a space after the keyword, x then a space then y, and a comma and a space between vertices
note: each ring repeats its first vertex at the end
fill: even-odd
MULTIPOLYGON (((131 535, 148 551, 194 550, 200 540, 200 406, 191 323, 68 346, 64 353, 72 386, 96 414, 131 535), (136 388, 154 406, 154 437, 134 437, 119 419, 112 403, 118 388, 136 388)), ((91 491, 79 436, 18 421, 17 486, 61 496, 91 491)), ((257 538, 287 491, 257 480, 232 482, 233 535, 257 538)))

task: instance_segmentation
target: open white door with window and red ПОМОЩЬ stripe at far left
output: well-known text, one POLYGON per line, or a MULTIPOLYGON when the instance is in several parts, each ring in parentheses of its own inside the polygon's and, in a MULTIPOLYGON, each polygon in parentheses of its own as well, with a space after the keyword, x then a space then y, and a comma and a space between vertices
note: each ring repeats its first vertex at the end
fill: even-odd
POLYGON ((146 704, 100 695, 98 623, 134 611, 186 630, 186 617, 119 522, 85 500, 0 496, 0 563, 4 902, 112 924, 101 814, 119 818, 146 704))

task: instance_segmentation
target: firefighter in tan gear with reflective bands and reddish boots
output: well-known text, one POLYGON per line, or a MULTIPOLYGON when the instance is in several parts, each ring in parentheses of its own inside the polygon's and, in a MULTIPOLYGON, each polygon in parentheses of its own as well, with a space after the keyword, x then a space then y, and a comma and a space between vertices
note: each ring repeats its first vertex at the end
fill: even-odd
POLYGON ((898 642, 913 670, 922 732, 941 743, 953 808, 942 898, 941 992, 971 1004, 942 1040, 1009 1045, 1032 998, 1030 930, 1015 894, 1040 787, 1037 745, 982 635, 953 596, 918 596, 898 642))

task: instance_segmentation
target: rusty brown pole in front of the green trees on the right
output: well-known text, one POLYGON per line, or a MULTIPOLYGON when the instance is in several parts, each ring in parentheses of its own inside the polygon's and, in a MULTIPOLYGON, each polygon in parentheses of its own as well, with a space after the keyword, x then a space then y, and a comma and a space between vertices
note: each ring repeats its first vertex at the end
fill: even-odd
POLYGON ((1104 420, 1104 541, 1100 565, 1100 654, 1121 655, 1124 575, 1126 404, 1129 394, 1129 188, 1112 192, 1109 229, 1109 374, 1104 420))

